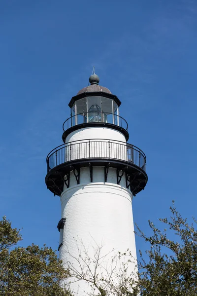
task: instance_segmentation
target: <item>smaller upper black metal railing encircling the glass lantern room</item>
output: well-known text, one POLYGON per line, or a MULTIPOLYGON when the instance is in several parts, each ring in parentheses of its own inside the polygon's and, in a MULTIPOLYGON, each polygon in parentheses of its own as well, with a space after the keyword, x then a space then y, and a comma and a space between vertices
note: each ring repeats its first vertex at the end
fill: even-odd
POLYGON ((63 131, 65 132, 66 129, 75 126, 77 124, 82 123, 90 123, 90 122, 103 122, 103 123, 111 123, 118 125, 124 128, 126 131, 128 130, 128 123, 127 121, 114 113, 105 113, 105 112, 87 112, 87 113, 79 113, 73 115, 66 119, 63 123, 63 131))

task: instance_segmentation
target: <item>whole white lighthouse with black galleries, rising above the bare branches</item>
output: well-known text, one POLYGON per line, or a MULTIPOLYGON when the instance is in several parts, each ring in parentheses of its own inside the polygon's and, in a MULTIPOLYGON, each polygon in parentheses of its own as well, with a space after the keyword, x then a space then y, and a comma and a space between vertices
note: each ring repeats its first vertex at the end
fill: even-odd
MULTIPOLYGON (((63 124, 64 144, 47 156, 47 188, 60 196, 60 259, 79 258, 95 244, 102 254, 130 250, 136 258, 132 197, 144 189, 146 156, 128 144, 128 124, 117 96, 99 85, 99 76, 72 97, 63 124)), ((74 261, 73 261, 73 264, 74 261)), ((77 269, 76 262, 76 269, 77 269)), ((133 267, 134 268, 134 267, 133 267)), ((77 282, 74 291, 86 289, 77 282)))

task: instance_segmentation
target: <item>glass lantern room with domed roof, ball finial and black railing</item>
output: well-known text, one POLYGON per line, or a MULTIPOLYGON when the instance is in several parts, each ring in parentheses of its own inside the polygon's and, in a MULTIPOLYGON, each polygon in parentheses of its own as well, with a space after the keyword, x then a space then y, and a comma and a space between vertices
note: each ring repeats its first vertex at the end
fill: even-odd
POLYGON ((91 75, 89 83, 68 104, 70 117, 63 124, 63 141, 70 132, 84 125, 120 130, 128 140, 127 121, 119 115, 121 101, 108 88, 99 85, 98 75, 91 75))

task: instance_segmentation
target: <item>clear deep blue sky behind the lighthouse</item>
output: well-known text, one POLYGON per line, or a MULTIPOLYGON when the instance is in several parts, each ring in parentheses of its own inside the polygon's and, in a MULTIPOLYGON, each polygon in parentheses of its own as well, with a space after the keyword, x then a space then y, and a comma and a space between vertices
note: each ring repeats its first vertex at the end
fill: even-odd
POLYGON ((197 2, 1 1, 0 216, 23 227, 24 246, 58 248, 60 201, 46 189, 45 158, 62 144, 67 104, 93 65, 122 101, 129 143, 147 155, 134 221, 149 233, 148 219, 168 216, 172 199, 197 217, 197 2))

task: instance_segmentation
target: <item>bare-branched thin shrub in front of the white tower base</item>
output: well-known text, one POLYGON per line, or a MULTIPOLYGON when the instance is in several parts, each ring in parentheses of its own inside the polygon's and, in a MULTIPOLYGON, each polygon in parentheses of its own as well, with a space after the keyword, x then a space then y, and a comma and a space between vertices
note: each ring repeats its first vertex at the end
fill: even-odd
MULTIPOLYGON (((98 245, 96 241, 94 241, 95 244, 92 245, 91 250, 87 250, 83 241, 78 238, 75 239, 75 243, 78 256, 74 257, 67 250, 69 259, 66 262, 66 267, 71 276, 71 287, 76 282, 85 289, 80 289, 80 295, 123 296, 128 295, 125 294, 125 291, 131 292, 131 287, 132 296, 139 295, 139 288, 136 285, 137 271, 130 274, 128 269, 130 264, 132 267, 136 266, 136 259, 131 259, 131 254, 128 251, 124 254, 115 253, 115 251, 103 254, 102 246, 98 245)), ((72 290, 70 291, 74 294, 72 290)))

